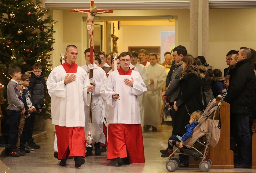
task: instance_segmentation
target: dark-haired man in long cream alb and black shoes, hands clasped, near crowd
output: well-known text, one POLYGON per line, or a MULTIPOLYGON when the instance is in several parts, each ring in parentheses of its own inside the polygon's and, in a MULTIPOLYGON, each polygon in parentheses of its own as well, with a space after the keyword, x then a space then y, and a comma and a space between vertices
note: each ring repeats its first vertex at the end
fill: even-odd
POLYGON ((161 124, 161 107, 162 107, 162 87, 166 81, 165 67, 157 63, 157 54, 151 53, 149 57, 150 65, 147 66, 150 85, 147 86, 145 93, 145 125, 144 131, 152 127, 152 131, 157 131, 161 124))

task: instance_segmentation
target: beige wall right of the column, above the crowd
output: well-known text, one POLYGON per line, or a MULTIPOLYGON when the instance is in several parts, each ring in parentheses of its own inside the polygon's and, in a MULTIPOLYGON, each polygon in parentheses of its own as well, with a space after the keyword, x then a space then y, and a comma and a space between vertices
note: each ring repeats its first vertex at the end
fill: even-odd
POLYGON ((210 9, 209 64, 224 72, 226 54, 240 47, 256 49, 255 9, 210 9))

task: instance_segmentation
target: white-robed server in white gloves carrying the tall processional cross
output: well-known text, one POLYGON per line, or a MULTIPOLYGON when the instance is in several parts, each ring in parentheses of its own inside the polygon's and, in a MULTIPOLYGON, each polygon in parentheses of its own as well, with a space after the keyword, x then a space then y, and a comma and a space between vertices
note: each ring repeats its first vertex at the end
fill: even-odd
MULTIPOLYGON (((95 52, 93 50, 93 59, 95 58, 94 56, 95 52)), ((84 51, 84 58, 86 60, 86 63, 82 66, 82 68, 85 69, 87 76, 89 77, 90 75, 90 70, 93 70, 93 77, 90 78, 90 83, 93 84, 94 90, 93 90, 93 108, 92 108, 92 124, 91 124, 91 136, 94 139, 94 147, 95 147, 95 155, 99 156, 101 155, 100 151, 100 143, 105 143, 105 135, 103 133, 103 127, 102 127, 102 122, 103 122, 103 115, 102 115, 102 110, 103 110, 103 100, 100 95, 100 82, 101 79, 106 75, 104 70, 97 66, 97 64, 90 63, 90 49, 86 49, 84 51)), ((88 114, 89 114, 89 106, 85 105, 85 122, 86 126, 88 123, 88 114)), ((85 127, 85 135, 87 136, 87 133, 89 129, 85 127)), ((87 147, 86 148, 86 153, 85 156, 91 156, 93 155, 93 147, 87 147)))

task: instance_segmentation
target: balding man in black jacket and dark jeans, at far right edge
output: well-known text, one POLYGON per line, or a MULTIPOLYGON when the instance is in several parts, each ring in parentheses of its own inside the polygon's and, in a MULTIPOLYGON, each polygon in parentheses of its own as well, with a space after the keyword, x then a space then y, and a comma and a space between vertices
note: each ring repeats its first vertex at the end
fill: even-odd
MULTIPOLYGON (((249 116, 255 103, 256 79, 251 63, 251 50, 242 47, 238 53, 238 62, 230 70, 229 92, 224 101, 230 104, 230 119, 236 121, 236 129, 241 144, 241 161, 235 162, 235 168, 251 168, 252 139, 249 116)), ((236 141, 237 142, 237 141, 236 141)), ((237 142, 239 144, 239 142, 237 142)))

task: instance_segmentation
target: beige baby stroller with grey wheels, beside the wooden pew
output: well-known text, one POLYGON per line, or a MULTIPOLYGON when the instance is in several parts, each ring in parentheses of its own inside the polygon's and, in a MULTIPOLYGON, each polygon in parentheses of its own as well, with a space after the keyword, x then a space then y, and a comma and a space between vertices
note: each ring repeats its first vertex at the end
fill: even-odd
POLYGON ((221 102, 215 105, 216 99, 213 99, 213 101, 208 104, 198 120, 198 125, 194 128, 192 136, 184 142, 183 148, 179 147, 180 142, 174 140, 168 141, 170 145, 177 147, 167 158, 166 169, 168 171, 175 171, 177 167, 180 166, 180 160, 174 158, 174 154, 187 155, 193 157, 195 160, 202 159, 199 164, 200 171, 208 172, 210 170, 212 161, 207 156, 207 153, 210 146, 215 147, 217 145, 221 135, 219 108, 223 102, 223 97, 220 95, 218 97, 221 98, 221 102), (207 142, 203 142, 202 137, 204 136, 207 142), (182 150, 184 153, 177 152, 178 149, 182 150))

